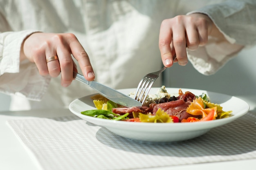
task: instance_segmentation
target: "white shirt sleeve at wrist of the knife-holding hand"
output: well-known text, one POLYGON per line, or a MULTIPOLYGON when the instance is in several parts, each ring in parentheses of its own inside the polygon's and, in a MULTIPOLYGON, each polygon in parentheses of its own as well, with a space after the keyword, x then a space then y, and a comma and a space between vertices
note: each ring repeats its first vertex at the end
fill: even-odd
POLYGON ((0 91, 40 100, 50 82, 49 76, 41 76, 34 63, 20 63, 20 47, 23 40, 37 30, 0 33, 0 91))

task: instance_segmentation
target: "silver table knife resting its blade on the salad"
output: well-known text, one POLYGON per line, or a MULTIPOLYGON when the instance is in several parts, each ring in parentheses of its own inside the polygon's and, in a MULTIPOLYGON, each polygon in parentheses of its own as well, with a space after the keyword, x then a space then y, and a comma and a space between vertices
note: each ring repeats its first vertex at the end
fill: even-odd
POLYGON ((88 81, 86 80, 83 75, 74 72, 74 78, 84 84, 87 84, 91 88, 93 88, 95 91, 99 92, 101 95, 106 97, 107 99, 110 99, 112 102, 115 102, 117 104, 120 104, 122 106, 126 107, 141 107, 142 104, 141 102, 132 99, 128 95, 124 95, 123 93, 116 91, 113 88, 110 88, 108 86, 105 86, 103 84, 100 84, 99 82, 96 81, 88 81))

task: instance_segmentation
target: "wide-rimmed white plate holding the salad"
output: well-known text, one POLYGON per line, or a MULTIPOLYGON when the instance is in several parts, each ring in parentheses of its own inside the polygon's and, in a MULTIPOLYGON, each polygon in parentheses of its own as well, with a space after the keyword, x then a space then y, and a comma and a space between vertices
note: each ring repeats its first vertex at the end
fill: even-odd
MULTIPOLYGON (((121 89, 120 92, 129 94, 136 89, 121 89)), ((159 88, 151 88, 150 94, 156 94, 159 88)), ((170 94, 177 94, 179 88, 166 88, 170 94)), ((220 104, 224 111, 232 110, 232 116, 225 119, 217 119, 213 121, 190 122, 190 123, 141 123, 141 122, 127 122, 115 121, 109 119, 100 119, 97 117, 90 117, 81 114, 81 111, 96 109, 90 96, 85 96, 80 99, 75 99, 71 102, 69 109, 78 117, 91 122, 93 124, 102 126, 111 132, 126 137, 135 141, 159 143, 159 142, 173 142, 192 139, 203 135, 211 128, 222 126, 238 117, 245 115, 249 111, 249 105, 234 96, 224 95, 220 93, 213 93, 209 91, 186 89, 182 88, 183 93, 190 91, 195 95, 206 93, 211 102, 220 104)), ((176 95, 175 95, 176 96, 176 95)))

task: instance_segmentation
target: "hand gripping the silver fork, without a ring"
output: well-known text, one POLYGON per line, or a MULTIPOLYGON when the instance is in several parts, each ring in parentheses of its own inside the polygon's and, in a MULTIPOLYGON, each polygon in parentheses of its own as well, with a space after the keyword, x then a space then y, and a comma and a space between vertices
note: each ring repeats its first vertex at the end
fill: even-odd
MULTIPOLYGON (((188 63, 186 48, 196 50, 207 44, 208 35, 217 32, 213 21, 202 13, 177 15, 162 22, 159 33, 159 49, 164 66, 173 65, 173 56, 184 66, 188 63)), ((222 35, 220 32, 218 36, 222 35)))

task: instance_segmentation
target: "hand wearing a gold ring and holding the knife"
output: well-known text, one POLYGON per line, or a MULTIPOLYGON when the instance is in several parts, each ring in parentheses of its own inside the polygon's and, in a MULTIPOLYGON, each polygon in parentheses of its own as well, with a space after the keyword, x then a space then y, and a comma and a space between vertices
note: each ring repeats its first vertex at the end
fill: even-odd
POLYGON ((94 72, 83 46, 72 33, 33 33, 23 42, 20 60, 26 58, 34 62, 40 75, 57 77, 61 73, 61 85, 67 87, 73 80, 73 71, 77 71, 72 56, 78 61, 85 79, 94 80, 94 72), (46 62, 52 56, 58 60, 46 62))

